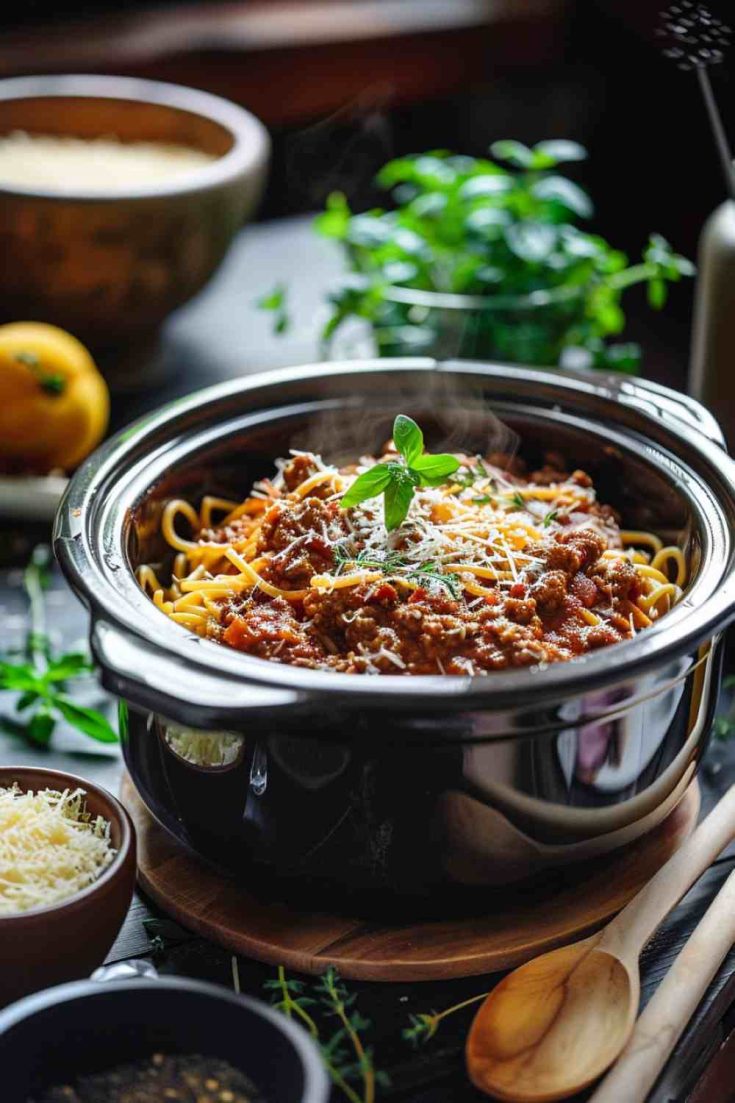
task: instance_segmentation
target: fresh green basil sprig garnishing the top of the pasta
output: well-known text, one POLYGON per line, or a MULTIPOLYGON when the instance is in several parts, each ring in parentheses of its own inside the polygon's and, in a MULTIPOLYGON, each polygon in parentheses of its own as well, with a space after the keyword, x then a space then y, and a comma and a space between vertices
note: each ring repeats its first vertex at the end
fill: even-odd
POLYGON ((383 495, 385 527, 388 533, 406 520, 418 486, 440 486, 459 469, 459 460, 447 452, 432 456, 424 451, 424 433, 413 418, 398 414, 393 422, 393 443, 401 457, 358 475, 340 505, 343 510, 383 495))

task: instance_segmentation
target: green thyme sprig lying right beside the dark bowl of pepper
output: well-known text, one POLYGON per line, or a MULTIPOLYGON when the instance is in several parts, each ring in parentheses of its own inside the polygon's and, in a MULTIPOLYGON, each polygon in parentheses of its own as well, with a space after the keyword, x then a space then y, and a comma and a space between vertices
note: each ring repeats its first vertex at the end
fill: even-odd
POLYGON ((286 976, 283 965, 277 977, 266 981, 264 987, 273 993, 273 1006, 289 1019, 298 1019, 319 1046, 324 1067, 332 1083, 349 1103, 375 1103, 377 1086, 387 1086, 387 1077, 375 1069, 373 1051, 365 1045, 364 1032, 371 1022, 356 1009, 356 996, 349 993, 335 968, 330 967, 312 985, 309 995, 306 984, 286 976), (317 1022, 317 1010, 327 1018, 334 1018, 339 1026, 329 1038, 322 1037, 317 1022))

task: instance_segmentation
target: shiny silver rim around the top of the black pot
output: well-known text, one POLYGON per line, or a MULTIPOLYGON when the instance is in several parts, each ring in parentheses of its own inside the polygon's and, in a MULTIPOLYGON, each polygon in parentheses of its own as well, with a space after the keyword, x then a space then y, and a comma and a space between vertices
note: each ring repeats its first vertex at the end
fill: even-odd
MULTIPOLYGON (((270 686, 274 688, 278 686, 296 690, 297 697, 301 694, 307 694, 310 697, 315 695, 330 696, 338 694, 344 698, 347 694, 351 698, 360 698, 362 704, 372 703, 381 706, 384 706, 388 698, 393 702, 401 700, 409 704, 415 703, 418 696, 429 696, 432 698, 441 697, 444 703, 449 707, 452 705, 455 707, 469 707, 481 703, 490 704, 493 707, 501 707, 504 700, 511 702, 512 699, 518 699, 518 695, 523 693, 524 689, 532 690, 536 700, 554 699, 560 696, 565 687, 569 687, 572 684, 578 686, 580 681, 584 681, 586 688, 594 688, 600 684, 619 682, 621 676, 625 677, 645 668, 650 668, 663 662, 667 657, 672 657, 674 654, 683 654, 712 636, 722 627, 726 618, 726 611, 728 612, 732 606, 732 566, 725 572, 724 583, 720 587, 718 591, 712 595, 697 610, 699 615, 692 618, 690 611, 688 617, 689 630, 679 633, 675 639, 671 638, 672 633, 667 630, 665 623, 662 623, 660 633, 657 634, 656 631, 651 630, 650 633, 646 633, 648 639, 639 636, 636 641, 621 645, 626 651, 625 656, 616 647, 616 657, 620 658, 619 663, 610 664, 610 652, 607 654, 598 652, 597 654, 576 660, 573 663, 557 664, 544 671, 543 683, 539 678, 542 672, 531 670, 513 671, 507 675, 493 675, 491 679, 486 676, 478 676, 477 678, 445 678, 440 675, 423 675, 415 678, 405 678, 387 675, 370 679, 369 684, 365 685, 363 676, 330 675, 324 672, 299 671, 295 667, 279 666, 278 664, 255 660, 251 656, 236 655, 235 653, 232 656, 227 654, 225 657, 222 654, 222 649, 209 641, 195 640, 193 642, 198 646, 193 647, 192 640, 189 636, 175 630, 174 625, 166 624, 162 618, 160 620, 157 618, 155 639, 151 638, 149 632, 142 631, 139 624, 130 623, 129 609, 119 608, 119 595, 116 592, 114 586, 110 585, 110 579, 105 576, 104 571, 95 570, 93 567, 96 557, 88 542, 89 534, 86 531, 84 520, 85 510, 90 505, 95 493, 105 482, 105 478, 109 476, 115 462, 119 463, 120 458, 125 458, 126 454, 129 456, 137 440, 150 437, 158 429, 166 428, 167 426, 170 427, 171 422, 175 422, 177 419, 188 416, 193 410, 204 410, 212 407, 212 405, 216 405, 219 400, 241 392, 257 390, 258 388, 277 390, 278 386, 283 386, 284 383, 298 383, 312 378, 316 375, 323 377, 326 374, 343 375, 344 373, 383 373, 405 370, 422 372, 427 368, 441 370, 443 367, 445 365, 437 364, 434 361, 401 360, 390 363, 385 361, 372 361, 358 362, 356 364, 333 364, 327 367, 324 365, 311 365, 308 367, 288 368, 277 373, 249 376, 234 383, 209 388, 199 395, 166 407, 158 415, 142 419, 137 425, 119 433, 92 461, 87 462, 82 472, 73 481, 60 508, 55 540, 62 566, 70 577, 70 581, 92 606, 95 618, 108 623, 113 622, 117 630, 124 632, 130 639, 138 638, 146 640, 162 652, 177 653, 179 657, 189 664, 192 673, 192 668, 203 667, 202 658, 205 661, 207 649, 212 649, 216 651, 216 658, 212 657, 213 662, 216 662, 216 665, 220 667, 219 673, 223 685, 231 679, 232 675, 232 677, 237 677, 241 683, 244 679, 253 683, 254 686, 270 686), (121 457, 118 454, 120 451, 121 457), (76 521, 76 524, 74 521, 76 521), (86 545, 84 548, 81 547, 83 543, 86 545), (111 598, 111 601, 108 600, 106 602, 96 592, 95 582, 98 585, 100 580, 103 581, 106 597, 108 599, 111 598), (126 612, 128 615, 126 615, 126 612), (175 640, 171 633, 164 632, 164 628, 175 632, 175 640), (170 639, 170 643, 167 640, 166 645, 163 645, 162 640, 164 635, 168 635, 170 639), (636 649, 635 655, 632 654, 633 649, 636 649), (222 667, 227 666, 233 658, 237 661, 237 672, 223 670, 222 667)), ((620 382, 608 377, 603 377, 601 382, 593 384, 592 381, 579 379, 577 376, 569 377, 565 373, 553 373, 552 375, 551 373, 534 370, 507 368, 503 365, 465 365, 461 363, 446 365, 447 371, 461 372, 466 368, 479 374, 492 374, 496 376, 502 371, 503 374, 522 377, 526 382, 531 381, 533 383, 539 379, 546 387, 550 383, 556 387, 562 384, 564 387, 571 387, 573 390, 583 389, 588 394, 605 388, 607 396, 612 398, 618 398, 616 392, 620 389, 620 382), (491 371, 489 372, 488 368, 491 371)), ((632 392, 633 399, 636 392, 640 392, 641 389, 654 392, 667 400, 670 400, 671 397, 675 398, 675 396, 671 396, 670 393, 665 392, 664 388, 649 387, 648 384, 636 384, 632 392)), ((685 436, 680 429, 682 440, 686 442, 690 449, 694 447, 695 451, 718 470, 723 478, 732 485, 735 482, 735 465, 725 456, 721 447, 717 443, 713 443, 704 433, 694 429, 691 424, 684 428, 685 436)), ((722 511, 720 512, 722 513, 722 511)), ((295 699, 291 697, 291 702, 295 699)))

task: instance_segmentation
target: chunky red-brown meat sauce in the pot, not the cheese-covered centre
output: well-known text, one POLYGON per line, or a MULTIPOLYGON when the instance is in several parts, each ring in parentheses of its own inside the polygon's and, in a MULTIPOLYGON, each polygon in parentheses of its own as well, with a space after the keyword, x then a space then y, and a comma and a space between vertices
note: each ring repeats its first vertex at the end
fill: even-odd
MULTIPOLYGON (((260 526, 258 554, 269 557, 260 574, 281 590, 339 572, 340 543, 354 539, 348 512, 329 486, 295 493, 313 472, 309 456, 287 464, 285 494, 260 526)), ((513 475, 516 486, 563 482, 592 486, 584 472, 569 475, 554 467, 528 479, 513 475)), ((236 536, 236 524, 222 538, 236 536)), ((214 634, 238 651, 294 666, 455 675, 562 662, 631 636, 641 577, 629 559, 604 557, 621 546, 614 511, 590 492, 574 512, 558 510, 542 531, 541 539, 523 548, 531 566, 510 583, 482 587, 480 597, 430 578, 422 585, 420 575, 409 588, 388 571, 361 585, 308 589, 298 601, 254 589, 224 604, 214 634), (586 617, 586 610, 599 615, 586 617)), ((217 539, 221 532, 205 535, 217 539)), ((407 523, 394 550, 412 538, 407 523)))

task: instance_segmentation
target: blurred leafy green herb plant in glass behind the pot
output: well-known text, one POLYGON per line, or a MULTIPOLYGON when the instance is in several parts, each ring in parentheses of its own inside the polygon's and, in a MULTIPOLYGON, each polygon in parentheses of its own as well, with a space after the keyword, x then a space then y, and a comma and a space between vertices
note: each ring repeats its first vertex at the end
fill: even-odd
MULTIPOLYGON (((692 276, 693 265, 658 234, 630 265, 580 227, 592 201, 560 171, 586 158, 577 142, 497 141, 490 152, 493 160, 434 151, 390 161, 377 184, 391 210, 354 214, 341 193, 329 197, 316 228, 341 243, 350 272, 329 296, 324 352, 361 319, 385 356, 554 366, 575 350, 577 364, 635 373, 639 346, 615 341, 625 329, 624 292, 646 283, 660 309, 668 283, 692 276)), ((283 332, 286 289, 260 306, 283 332)))

